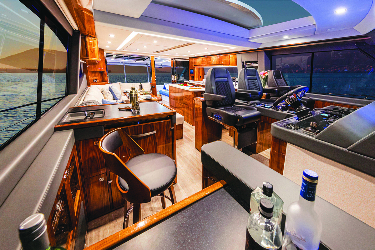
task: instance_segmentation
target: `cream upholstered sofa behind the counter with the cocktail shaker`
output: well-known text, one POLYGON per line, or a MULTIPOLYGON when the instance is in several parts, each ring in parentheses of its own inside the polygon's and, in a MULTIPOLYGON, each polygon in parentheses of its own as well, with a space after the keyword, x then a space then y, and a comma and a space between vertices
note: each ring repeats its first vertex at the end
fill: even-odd
MULTIPOLYGON (((151 92, 151 83, 150 82, 142 82, 142 86, 144 90, 151 92)), ((132 87, 135 87, 136 89, 139 88, 138 83, 123 83, 123 82, 115 82, 110 84, 103 84, 103 85, 90 85, 90 87, 87 88, 86 92, 84 93, 83 97, 81 98, 80 102, 77 106, 89 106, 89 105, 102 105, 102 104, 109 104, 109 103, 121 103, 122 101, 124 103, 129 103, 129 99, 124 94, 125 90, 129 90, 132 87), (115 100, 113 97, 104 97, 101 90, 102 88, 105 88, 106 90, 109 89, 109 87, 115 87, 118 91, 121 93, 120 100, 115 100)))

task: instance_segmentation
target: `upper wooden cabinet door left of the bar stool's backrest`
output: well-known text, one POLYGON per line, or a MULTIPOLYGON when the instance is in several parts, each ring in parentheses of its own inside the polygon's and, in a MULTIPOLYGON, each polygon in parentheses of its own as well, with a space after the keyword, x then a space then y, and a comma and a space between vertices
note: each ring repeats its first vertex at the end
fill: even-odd
POLYGON ((78 141, 84 179, 105 173, 104 158, 99 149, 99 140, 100 138, 93 138, 78 141))

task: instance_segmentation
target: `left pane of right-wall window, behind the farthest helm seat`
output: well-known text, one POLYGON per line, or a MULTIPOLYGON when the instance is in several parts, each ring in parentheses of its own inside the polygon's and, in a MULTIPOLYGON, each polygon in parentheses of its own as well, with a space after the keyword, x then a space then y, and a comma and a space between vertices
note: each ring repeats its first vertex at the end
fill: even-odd
POLYGON ((272 69, 280 70, 289 86, 303 85, 309 87, 311 55, 311 53, 273 55, 272 69))

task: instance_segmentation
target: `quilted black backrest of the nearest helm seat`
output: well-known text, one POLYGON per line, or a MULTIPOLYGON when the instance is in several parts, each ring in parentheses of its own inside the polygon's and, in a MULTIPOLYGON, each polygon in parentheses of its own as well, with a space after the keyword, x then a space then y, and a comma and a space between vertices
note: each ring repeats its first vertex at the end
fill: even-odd
POLYGON ((229 71, 221 68, 211 68, 207 72, 205 92, 226 96, 225 101, 214 101, 212 106, 232 105, 236 100, 236 91, 229 71))

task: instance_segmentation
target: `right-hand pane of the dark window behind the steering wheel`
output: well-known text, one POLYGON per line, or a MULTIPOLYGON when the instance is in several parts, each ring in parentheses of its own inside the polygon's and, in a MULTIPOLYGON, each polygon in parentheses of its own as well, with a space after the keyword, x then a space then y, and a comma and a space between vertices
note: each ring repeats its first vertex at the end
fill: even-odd
POLYGON ((357 49, 314 53, 312 92, 375 97, 375 61, 357 49))

